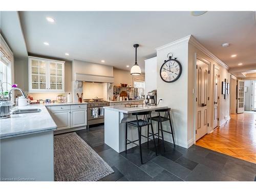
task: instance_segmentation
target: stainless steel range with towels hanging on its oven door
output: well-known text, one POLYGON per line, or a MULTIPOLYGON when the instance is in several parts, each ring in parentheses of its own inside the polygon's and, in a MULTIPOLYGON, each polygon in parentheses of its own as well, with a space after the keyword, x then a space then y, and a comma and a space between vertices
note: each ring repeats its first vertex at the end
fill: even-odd
POLYGON ((103 106, 109 106, 110 102, 95 97, 94 99, 83 99, 87 102, 87 121, 88 127, 92 124, 104 122, 104 109, 103 106))

